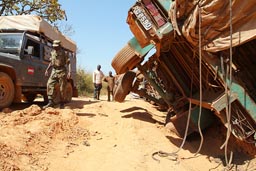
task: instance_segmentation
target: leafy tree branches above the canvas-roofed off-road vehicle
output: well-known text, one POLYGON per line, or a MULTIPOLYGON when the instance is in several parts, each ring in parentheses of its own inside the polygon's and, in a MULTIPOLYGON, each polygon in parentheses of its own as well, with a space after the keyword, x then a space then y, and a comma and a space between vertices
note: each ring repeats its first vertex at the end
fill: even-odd
POLYGON ((2 0, 0 16, 34 14, 54 23, 66 20, 65 10, 61 9, 58 0, 2 0))

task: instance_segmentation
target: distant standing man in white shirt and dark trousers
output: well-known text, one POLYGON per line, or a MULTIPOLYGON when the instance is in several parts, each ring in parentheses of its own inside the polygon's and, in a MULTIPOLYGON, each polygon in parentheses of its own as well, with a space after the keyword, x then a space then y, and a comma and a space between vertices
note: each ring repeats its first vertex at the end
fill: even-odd
POLYGON ((103 72, 100 70, 101 66, 97 66, 97 70, 93 72, 92 82, 94 84, 94 99, 100 99, 100 90, 102 88, 102 79, 104 77, 103 72))

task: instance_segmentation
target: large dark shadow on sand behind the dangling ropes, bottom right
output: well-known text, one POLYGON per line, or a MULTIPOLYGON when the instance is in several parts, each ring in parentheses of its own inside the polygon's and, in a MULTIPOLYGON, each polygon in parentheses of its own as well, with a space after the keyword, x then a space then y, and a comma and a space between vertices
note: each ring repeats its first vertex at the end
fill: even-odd
MULTIPOLYGON (((205 129, 202 132, 203 138, 201 138, 199 133, 192 133, 189 136, 187 136, 186 141, 182 147, 181 145, 183 142, 183 138, 180 138, 177 136, 166 136, 166 138, 172 144, 176 145, 178 149, 182 148, 183 150, 188 150, 191 153, 195 154, 194 156, 183 158, 185 160, 196 158, 200 155, 205 155, 210 161, 216 162, 219 165, 225 166, 226 165, 225 150, 224 148, 220 149, 220 147, 223 145, 225 141, 225 137, 223 136, 223 133, 220 133, 219 129, 220 128, 213 127, 213 126, 205 129), (202 142, 202 146, 200 148, 201 142, 202 142)), ((238 149, 232 143, 233 143, 232 140, 230 140, 227 146, 228 147, 227 158, 228 159, 230 158, 230 154, 232 151, 233 158, 232 158, 231 164, 233 165, 234 169, 236 170, 236 168, 239 168, 239 166, 241 167, 243 165, 243 170, 248 170, 248 171, 256 170, 256 164, 250 162, 250 160, 254 159, 254 157, 247 155, 244 152, 241 152, 241 149, 238 149), (245 164, 247 164, 246 166, 247 169, 244 168, 245 164)), ((213 168, 213 170, 215 169, 216 168, 213 168)))

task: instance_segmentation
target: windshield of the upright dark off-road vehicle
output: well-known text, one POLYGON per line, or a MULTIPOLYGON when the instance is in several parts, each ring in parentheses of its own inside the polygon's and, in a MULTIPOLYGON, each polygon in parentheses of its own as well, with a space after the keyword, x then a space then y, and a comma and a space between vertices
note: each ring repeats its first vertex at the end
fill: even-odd
POLYGON ((22 33, 0 33, 0 52, 18 54, 22 44, 22 33))

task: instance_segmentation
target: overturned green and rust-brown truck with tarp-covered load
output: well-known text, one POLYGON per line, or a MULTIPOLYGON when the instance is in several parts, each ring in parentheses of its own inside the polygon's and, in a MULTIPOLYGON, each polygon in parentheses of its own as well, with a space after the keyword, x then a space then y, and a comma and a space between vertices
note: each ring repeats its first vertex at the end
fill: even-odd
POLYGON ((112 60, 119 75, 115 100, 124 101, 132 91, 165 107, 166 122, 181 137, 210 126, 217 116, 239 141, 254 144, 255 152, 253 4, 138 0, 127 17, 134 37, 112 60))

